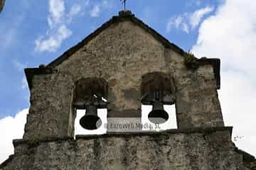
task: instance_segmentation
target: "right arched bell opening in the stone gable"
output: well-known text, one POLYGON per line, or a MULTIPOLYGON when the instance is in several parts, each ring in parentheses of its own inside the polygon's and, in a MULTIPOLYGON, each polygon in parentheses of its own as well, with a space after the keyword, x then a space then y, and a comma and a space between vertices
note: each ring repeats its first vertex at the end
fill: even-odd
POLYGON ((142 124, 155 127, 151 130, 177 128, 175 86, 169 74, 161 72, 145 74, 142 77, 141 95, 142 124))

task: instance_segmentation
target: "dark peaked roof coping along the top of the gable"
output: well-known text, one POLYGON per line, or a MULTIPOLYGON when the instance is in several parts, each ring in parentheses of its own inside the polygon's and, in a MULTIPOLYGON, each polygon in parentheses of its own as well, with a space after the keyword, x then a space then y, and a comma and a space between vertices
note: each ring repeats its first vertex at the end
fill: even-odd
MULTIPOLYGON (((188 66, 188 68, 198 68, 200 65, 204 64, 210 64, 213 66, 215 79, 217 81, 217 88, 220 89, 220 60, 218 59, 208 59, 206 57, 203 57, 202 59, 197 59, 193 55, 188 54, 187 52, 184 52, 180 47, 177 45, 174 45, 173 43, 169 42, 166 38, 164 38, 162 35, 156 32, 156 30, 150 28, 147 26, 144 22, 139 20, 137 17, 132 14, 131 11, 120 11, 119 16, 113 16, 110 21, 107 21, 106 23, 102 24, 100 28, 97 28, 93 33, 88 35, 84 40, 79 42, 77 45, 71 47, 69 50, 63 53, 63 55, 60 55, 56 60, 53 60, 53 62, 50 62, 46 66, 46 68, 41 69, 26 69, 26 77, 28 79, 28 86, 31 89, 31 81, 34 74, 44 74, 45 72, 50 72, 50 69, 53 69, 55 67, 60 66, 63 62, 68 60, 70 57, 72 57, 75 52, 78 52, 81 50, 82 47, 85 47, 91 40, 94 40, 97 38, 101 33, 103 33, 107 28, 110 28, 114 24, 122 23, 125 21, 129 21, 134 23, 135 26, 138 26, 139 28, 142 28, 145 33, 148 33, 153 37, 157 42, 160 42, 161 45, 163 45, 164 48, 167 50, 171 50, 176 52, 176 54, 180 57, 184 57, 184 63, 188 66)), ((183 59, 182 59, 183 60, 183 59)))

